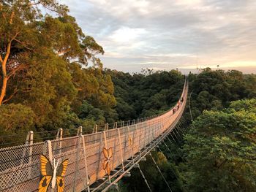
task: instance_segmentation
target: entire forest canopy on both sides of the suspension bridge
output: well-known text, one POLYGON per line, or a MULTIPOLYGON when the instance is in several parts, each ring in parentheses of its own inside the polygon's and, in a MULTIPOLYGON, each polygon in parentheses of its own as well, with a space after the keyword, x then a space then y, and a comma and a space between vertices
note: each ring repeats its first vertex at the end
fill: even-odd
MULTIPOLYGON (((39 142, 58 128, 86 133, 157 115, 181 95, 178 70, 104 69, 103 47, 55 0, 1 1, 0 26, 0 147, 24 143, 29 130, 39 142)), ((184 139, 152 154, 172 191, 255 191, 256 75, 206 68, 189 74, 189 89, 184 139)), ((151 189, 169 191, 147 159, 140 166, 151 189)), ((148 191, 136 169, 121 183, 122 191, 148 191)))

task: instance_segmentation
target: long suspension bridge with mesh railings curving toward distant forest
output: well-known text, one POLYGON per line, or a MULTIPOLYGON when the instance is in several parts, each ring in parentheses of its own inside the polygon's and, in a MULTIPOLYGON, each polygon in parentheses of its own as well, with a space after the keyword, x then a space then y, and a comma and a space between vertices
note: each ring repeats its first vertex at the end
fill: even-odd
POLYGON ((116 124, 105 131, 97 131, 95 126, 92 134, 83 134, 80 127, 74 137, 63 137, 63 130, 59 129, 56 139, 45 142, 33 142, 33 131, 29 131, 24 145, 0 149, 0 191, 38 191, 42 154, 51 164, 68 159, 64 191, 108 191, 122 177, 130 176, 132 168, 139 168, 138 163, 170 133, 175 133, 186 107, 187 93, 186 78, 181 99, 169 111, 129 121, 127 125, 121 123, 120 127, 116 124))

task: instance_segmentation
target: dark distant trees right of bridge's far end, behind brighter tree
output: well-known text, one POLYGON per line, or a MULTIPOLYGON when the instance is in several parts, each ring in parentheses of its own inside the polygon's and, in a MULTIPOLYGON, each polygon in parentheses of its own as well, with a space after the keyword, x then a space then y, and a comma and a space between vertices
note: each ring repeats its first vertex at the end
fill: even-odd
POLYGON ((194 109, 195 116, 203 110, 221 110, 227 107, 230 101, 255 97, 255 74, 244 75, 236 70, 224 72, 206 68, 191 80, 194 80, 192 82, 192 107, 196 108, 194 109))

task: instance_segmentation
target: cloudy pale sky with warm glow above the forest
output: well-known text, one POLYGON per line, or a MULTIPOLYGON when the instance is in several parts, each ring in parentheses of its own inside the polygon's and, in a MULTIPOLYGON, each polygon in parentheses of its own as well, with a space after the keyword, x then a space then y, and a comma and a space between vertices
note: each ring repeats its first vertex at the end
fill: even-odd
POLYGON ((60 0, 124 72, 197 68, 256 72, 255 0, 60 0))

